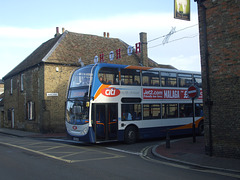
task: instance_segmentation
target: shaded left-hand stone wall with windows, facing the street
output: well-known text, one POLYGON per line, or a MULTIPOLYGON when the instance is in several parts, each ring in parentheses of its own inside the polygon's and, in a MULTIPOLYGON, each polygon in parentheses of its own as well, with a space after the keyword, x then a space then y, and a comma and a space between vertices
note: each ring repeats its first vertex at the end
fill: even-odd
POLYGON ((39 117, 36 114, 39 112, 39 106, 37 102, 39 101, 39 95, 41 94, 39 89, 41 71, 41 66, 35 66, 5 80, 4 99, 7 99, 7 101, 4 101, 5 127, 31 130, 36 132, 39 131, 39 117), (27 103, 30 101, 34 102, 35 106, 35 116, 32 120, 29 120, 27 116, 27 103), (10 118, 9 111, 13 110, 14 117, 10 118))

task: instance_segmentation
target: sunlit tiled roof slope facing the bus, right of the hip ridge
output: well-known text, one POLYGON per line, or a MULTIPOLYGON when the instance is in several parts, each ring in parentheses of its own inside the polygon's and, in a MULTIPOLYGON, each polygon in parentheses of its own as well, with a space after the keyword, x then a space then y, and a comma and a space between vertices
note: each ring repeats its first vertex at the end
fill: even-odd
MULTIPOLYGON (((46 62, 52 63, 64 63, 79 65, 78 60, 81 58, 84 64, 93 64, 94 57, 99 56, 101 53, 104 54, 104 60, 108 63, 118 63, 124 62, 126 60, 128 45, 117 38, 106 38, 102 36, 88 35, 67 32, 65 37, 61 40, 61 43, 55 49, 55 51, 48 57, 46 62), (108 56, 110 51, 115 51, 116 49, 122 50, 122 58, 124 61, 113 61, 110 62, 108 56), (125 51, 124 51, 125 49, 125 51)), ((132 59, 132 58, 131 58, 132 59)), ((138 64, 138 60, 135 58, 138 64)))

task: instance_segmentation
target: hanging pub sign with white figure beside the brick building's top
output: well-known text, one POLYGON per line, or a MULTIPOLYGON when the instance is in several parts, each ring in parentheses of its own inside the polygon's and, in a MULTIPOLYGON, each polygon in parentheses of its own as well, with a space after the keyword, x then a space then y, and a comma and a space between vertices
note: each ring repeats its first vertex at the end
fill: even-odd
POLYGON ((190 0, 174 0, 174 18, 190 21, 190 0))

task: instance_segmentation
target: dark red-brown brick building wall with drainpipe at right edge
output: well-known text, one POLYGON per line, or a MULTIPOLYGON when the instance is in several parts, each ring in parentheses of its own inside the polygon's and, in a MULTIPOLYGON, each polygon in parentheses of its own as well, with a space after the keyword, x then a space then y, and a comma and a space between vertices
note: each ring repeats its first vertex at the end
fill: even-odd
POLYGON ((206 153, 240 158, 240 0, 196 1, 206 153))

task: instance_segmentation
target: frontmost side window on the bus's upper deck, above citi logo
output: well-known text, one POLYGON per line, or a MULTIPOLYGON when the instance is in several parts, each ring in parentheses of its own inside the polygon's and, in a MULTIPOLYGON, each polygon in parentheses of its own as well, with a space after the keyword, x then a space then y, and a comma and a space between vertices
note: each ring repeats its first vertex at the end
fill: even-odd
POLYGON ((103 84, 118 85, 119 71, 117 68, 103 67, 98 72, 98 79, 103 84))

